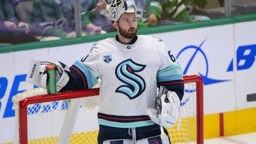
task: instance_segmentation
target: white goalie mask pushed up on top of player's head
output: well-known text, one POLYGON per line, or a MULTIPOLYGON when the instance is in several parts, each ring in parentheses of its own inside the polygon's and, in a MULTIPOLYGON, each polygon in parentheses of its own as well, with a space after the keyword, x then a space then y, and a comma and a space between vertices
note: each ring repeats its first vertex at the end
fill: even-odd
POLYGON ((109 7, 108 19, 118 21, 123 13, 135 13, 136 6, 134 0, 112 0, 109 7))

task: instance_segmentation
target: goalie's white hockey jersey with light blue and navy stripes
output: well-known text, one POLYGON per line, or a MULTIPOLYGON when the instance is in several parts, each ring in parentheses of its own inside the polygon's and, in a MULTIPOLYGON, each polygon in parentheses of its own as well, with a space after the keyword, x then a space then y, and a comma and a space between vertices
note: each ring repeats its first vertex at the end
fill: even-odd
POLYGON ((101 78, 100 125, 153 125, 147 108, 155 107, 157 85, 184 83, 178 61, 162 40, 146 35, 137 37, 136 42, 128 45, 115 38, 99 41, 83 62, 76 61, 70 67, 81 75, 84 88, 92 88, 101 78))

